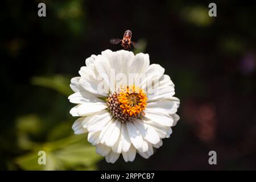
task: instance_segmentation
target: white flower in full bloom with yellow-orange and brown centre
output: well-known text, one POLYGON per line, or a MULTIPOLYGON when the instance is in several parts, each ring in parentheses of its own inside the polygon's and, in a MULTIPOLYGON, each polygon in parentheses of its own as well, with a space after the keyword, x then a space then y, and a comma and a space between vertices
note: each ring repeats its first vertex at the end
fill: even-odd
POLYGON ((71 79, 75 93, 68 97, 77 104, 70 113, 80 117, 72 126, 75 134, 88 132, 88 141, 108 163, 120 154, 125 162, 137 152, 149 158, 179 120, 180 101, 164 68, 150 65, 148 54, 124 50, 106 50, 85 63, 80 77, 71 79))

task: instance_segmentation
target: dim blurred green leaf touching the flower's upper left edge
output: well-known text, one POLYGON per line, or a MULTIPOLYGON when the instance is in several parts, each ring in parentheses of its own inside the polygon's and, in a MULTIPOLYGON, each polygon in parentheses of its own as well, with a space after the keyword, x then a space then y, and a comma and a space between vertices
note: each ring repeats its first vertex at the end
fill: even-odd
POLYGON ((53 77, 32 77, 31 82, 33 85, 56 90, 65 96, 69 96, 73 93, 71 88, 69 88, 70 78, 65 76, 56 75, 53 77))

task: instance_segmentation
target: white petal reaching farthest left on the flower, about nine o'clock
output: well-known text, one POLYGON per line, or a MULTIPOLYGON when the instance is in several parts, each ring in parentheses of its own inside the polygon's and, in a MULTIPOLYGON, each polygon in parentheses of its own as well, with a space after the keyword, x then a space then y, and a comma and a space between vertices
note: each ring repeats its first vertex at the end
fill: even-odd
POLYGON ((92 102, 92 103, 102 102, 102 103, 105 103, 100 98, 97 98, 96 96, 94 96, 92 93, 89 93, 88 91, 73 93, 71 96, 68 97, 68 99, 69 99, 70 102, 75 103, 75 104, 83 104, 83 103, 86 103, 86 102, 92 102))

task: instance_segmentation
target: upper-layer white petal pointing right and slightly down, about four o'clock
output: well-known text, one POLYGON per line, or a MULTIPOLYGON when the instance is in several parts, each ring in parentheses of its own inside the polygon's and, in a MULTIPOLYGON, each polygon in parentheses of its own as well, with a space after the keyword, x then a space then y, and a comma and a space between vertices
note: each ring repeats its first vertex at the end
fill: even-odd
POLYGON ((155 121, 156 123, 159 123, 160 125, 163 126, 172 126, 174 124, 174 119, 172 119, 172 117, 170 117, 170 115, 166 114, 166 113, 159 113, 158 111, 148 111, 148 110, 144 110, 144 117, 155 121))

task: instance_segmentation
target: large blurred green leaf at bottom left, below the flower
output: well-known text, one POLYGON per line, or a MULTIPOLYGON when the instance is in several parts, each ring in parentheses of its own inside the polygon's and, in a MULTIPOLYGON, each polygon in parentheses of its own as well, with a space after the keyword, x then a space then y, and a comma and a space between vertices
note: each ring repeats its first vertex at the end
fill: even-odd
POLYGON ((102 159, 95 147, 87 142, 87 135, 72 135, 35 147, 27 155, 20 156, 16 163, 25 170, 64 170, 80 167, 93 169, 102 159), (39 151, 46 152, 46 164, 38 164, 39 151))

